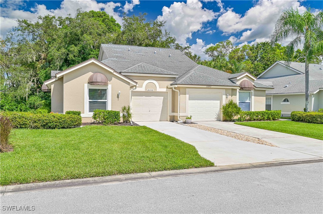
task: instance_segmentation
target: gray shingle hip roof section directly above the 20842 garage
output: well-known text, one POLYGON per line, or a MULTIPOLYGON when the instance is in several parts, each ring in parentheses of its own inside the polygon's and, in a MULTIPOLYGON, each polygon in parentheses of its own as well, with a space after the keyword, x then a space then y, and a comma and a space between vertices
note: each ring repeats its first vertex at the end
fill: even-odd
POLYGON ((171 85, 213 85, 213 86, 239 86, 230 81, 229 73, 209 68, 203 65, 196 65, 192 70, 182 75, 171 85))

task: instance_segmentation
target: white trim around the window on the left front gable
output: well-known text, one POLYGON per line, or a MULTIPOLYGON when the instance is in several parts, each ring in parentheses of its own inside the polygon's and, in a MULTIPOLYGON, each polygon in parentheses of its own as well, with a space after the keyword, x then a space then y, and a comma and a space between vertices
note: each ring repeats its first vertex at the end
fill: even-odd
POLYGON ((93 112, 89 112, 89 88, 103 88, 107 89, 107 100, 96 100, 96 101, 107 101, 107 109, 111 110, 111 85, 108 86, 97 86, 84 84, 84 114, 81 117, 92 117, 93 112))

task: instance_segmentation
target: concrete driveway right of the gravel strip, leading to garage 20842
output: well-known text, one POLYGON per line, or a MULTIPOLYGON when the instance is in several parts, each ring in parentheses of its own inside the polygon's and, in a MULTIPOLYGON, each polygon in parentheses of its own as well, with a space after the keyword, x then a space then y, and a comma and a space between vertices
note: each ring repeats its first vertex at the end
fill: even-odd
MULTIPOLYGON (((259 138, 271 144, 274 144, 280 148, 323 157, 322 140, 298 135, 290 135, 281 132, 274 132, 248 126, 241 126, 234 123, 227 123, 221 121, 204 121, 198 123, 204 126, 210 126, 217 129, 222 129, 238 134, 259 138)), ((308 131, 310 132, 311 130, 308 131)))

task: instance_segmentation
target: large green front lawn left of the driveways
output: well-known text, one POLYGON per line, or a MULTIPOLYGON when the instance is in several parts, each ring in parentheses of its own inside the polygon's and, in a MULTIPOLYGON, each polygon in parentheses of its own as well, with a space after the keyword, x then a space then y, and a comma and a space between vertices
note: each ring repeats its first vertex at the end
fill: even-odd
POLYGON ((146 126, 13 130, 1 185, 214 166, 194 146, 146 126))

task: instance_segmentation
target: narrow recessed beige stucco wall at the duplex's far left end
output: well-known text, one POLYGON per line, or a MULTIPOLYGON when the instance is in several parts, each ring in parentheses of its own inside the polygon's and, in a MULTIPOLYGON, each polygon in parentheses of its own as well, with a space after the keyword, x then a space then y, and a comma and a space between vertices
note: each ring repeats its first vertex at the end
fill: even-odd
POLYGON ((63 113, 63 78, 51 84, 51 111, 63 113))

